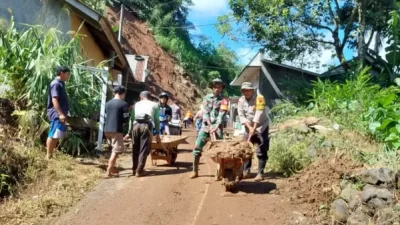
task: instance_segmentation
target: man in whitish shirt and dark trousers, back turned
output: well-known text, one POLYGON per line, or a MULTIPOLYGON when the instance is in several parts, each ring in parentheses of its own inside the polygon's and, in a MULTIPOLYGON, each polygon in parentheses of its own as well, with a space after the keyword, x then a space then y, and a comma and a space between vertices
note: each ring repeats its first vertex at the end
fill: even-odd
POLYGON ((149 100, 150 97, 148 91, 140 93, 140 101, 133 107, 129 121, 127 136, 132 134, 132 170, 136 177, 146 175, 144 167, 153 141, 153 122, 156 129, 156 141, 161 142, 160 111, 158 104, 149 100))

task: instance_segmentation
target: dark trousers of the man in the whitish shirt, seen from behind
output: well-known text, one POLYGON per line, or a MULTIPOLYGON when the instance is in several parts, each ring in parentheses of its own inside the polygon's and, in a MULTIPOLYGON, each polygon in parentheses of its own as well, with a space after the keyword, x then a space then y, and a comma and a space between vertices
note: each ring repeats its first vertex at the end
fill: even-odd
POLYGON ((149 123, 135 123, 132 129, 132 170, 142 172, 150 154, 153 127, 149 123))

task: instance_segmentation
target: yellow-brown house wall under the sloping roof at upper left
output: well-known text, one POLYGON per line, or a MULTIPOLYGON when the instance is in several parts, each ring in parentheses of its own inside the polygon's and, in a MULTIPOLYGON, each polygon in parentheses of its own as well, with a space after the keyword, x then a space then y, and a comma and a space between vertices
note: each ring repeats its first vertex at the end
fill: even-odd
POLYGON ((80 45, 82 47, 82 54, 88 61, 88 66, 96 67, 107 58, 104 56, 100 46, 96 43, 92 33, 90 33, 86 24, 75 13, 71 14, 71 31, 78 32, 80 35, 80 45), (82 26, 82 27, 81 27, 82 26))

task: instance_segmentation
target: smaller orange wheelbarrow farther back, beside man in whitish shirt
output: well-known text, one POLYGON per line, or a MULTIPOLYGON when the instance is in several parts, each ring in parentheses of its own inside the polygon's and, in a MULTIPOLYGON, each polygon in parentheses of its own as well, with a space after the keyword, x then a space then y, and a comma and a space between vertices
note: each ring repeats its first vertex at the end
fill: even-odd
POLYGON ((172 166, 178 157, 178 145, 184 143, 186 138, 187 136, 161 136, 161 143, 157 143, 154 138, 150 153, 152 165, 157 166, 157 160, 165 160, 172 166))

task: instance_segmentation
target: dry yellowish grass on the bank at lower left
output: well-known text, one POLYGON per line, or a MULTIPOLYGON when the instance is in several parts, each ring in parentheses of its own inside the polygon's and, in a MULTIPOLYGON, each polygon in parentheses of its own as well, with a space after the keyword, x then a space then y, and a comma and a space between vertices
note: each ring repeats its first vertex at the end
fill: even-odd
POLYGON ((41 149, 15 146, 9 151, 29 163, 18 168, 21 177, 11 186, 12 195, 0 205, 0 224, 4 225, 49 224, 78 202, 102 173, 100 168, 80 165, 64 154, 47 162, 41 149))

